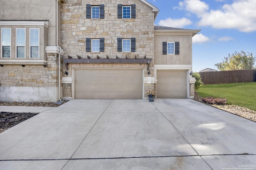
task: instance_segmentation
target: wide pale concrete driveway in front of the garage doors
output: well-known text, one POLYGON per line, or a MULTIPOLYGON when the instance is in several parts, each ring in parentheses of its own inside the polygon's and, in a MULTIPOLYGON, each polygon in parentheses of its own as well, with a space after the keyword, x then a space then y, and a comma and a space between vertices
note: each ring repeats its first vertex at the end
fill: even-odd
POLYGON ((2 132, 0 170, 256 170, 255 142, 255 122, 190 99, 72 100, 2 132))

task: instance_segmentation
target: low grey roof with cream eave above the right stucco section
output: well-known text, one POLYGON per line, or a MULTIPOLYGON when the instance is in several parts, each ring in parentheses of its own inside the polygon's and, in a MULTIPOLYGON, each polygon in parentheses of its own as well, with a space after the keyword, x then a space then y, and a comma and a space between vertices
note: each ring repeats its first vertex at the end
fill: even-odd
POLYGON ((190 30, 184 28, 174 28, 174 27, 165 27, 165 26, 154 26, 154 32, 158 33, 192 33, 193 36, 196 35, 201 30, 190 30))

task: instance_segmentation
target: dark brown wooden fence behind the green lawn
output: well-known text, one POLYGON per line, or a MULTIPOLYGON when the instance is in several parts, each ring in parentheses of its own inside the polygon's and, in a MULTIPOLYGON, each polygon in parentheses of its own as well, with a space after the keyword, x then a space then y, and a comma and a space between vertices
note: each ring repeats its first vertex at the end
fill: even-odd
POLYGON ((204 85, 256 81, 256 70, 200 72, 204 85))

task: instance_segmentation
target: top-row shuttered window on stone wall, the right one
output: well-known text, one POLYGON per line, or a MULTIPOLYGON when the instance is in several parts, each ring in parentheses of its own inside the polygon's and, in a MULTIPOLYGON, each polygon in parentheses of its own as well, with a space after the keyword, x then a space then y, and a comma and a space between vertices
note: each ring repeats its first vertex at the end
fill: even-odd
POLYGON ((118 18, 130 19, 136 18, 136 5, 132 4, 130 6, 123 6, 118 4, 118 18))

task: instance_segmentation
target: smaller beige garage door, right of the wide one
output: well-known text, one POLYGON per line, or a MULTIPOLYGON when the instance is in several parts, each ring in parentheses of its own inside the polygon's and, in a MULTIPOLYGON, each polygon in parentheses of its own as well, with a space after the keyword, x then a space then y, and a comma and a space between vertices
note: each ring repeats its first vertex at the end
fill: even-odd
POLYGON ((186 70, 158 70, 157 98, 187 98, 186 70))

